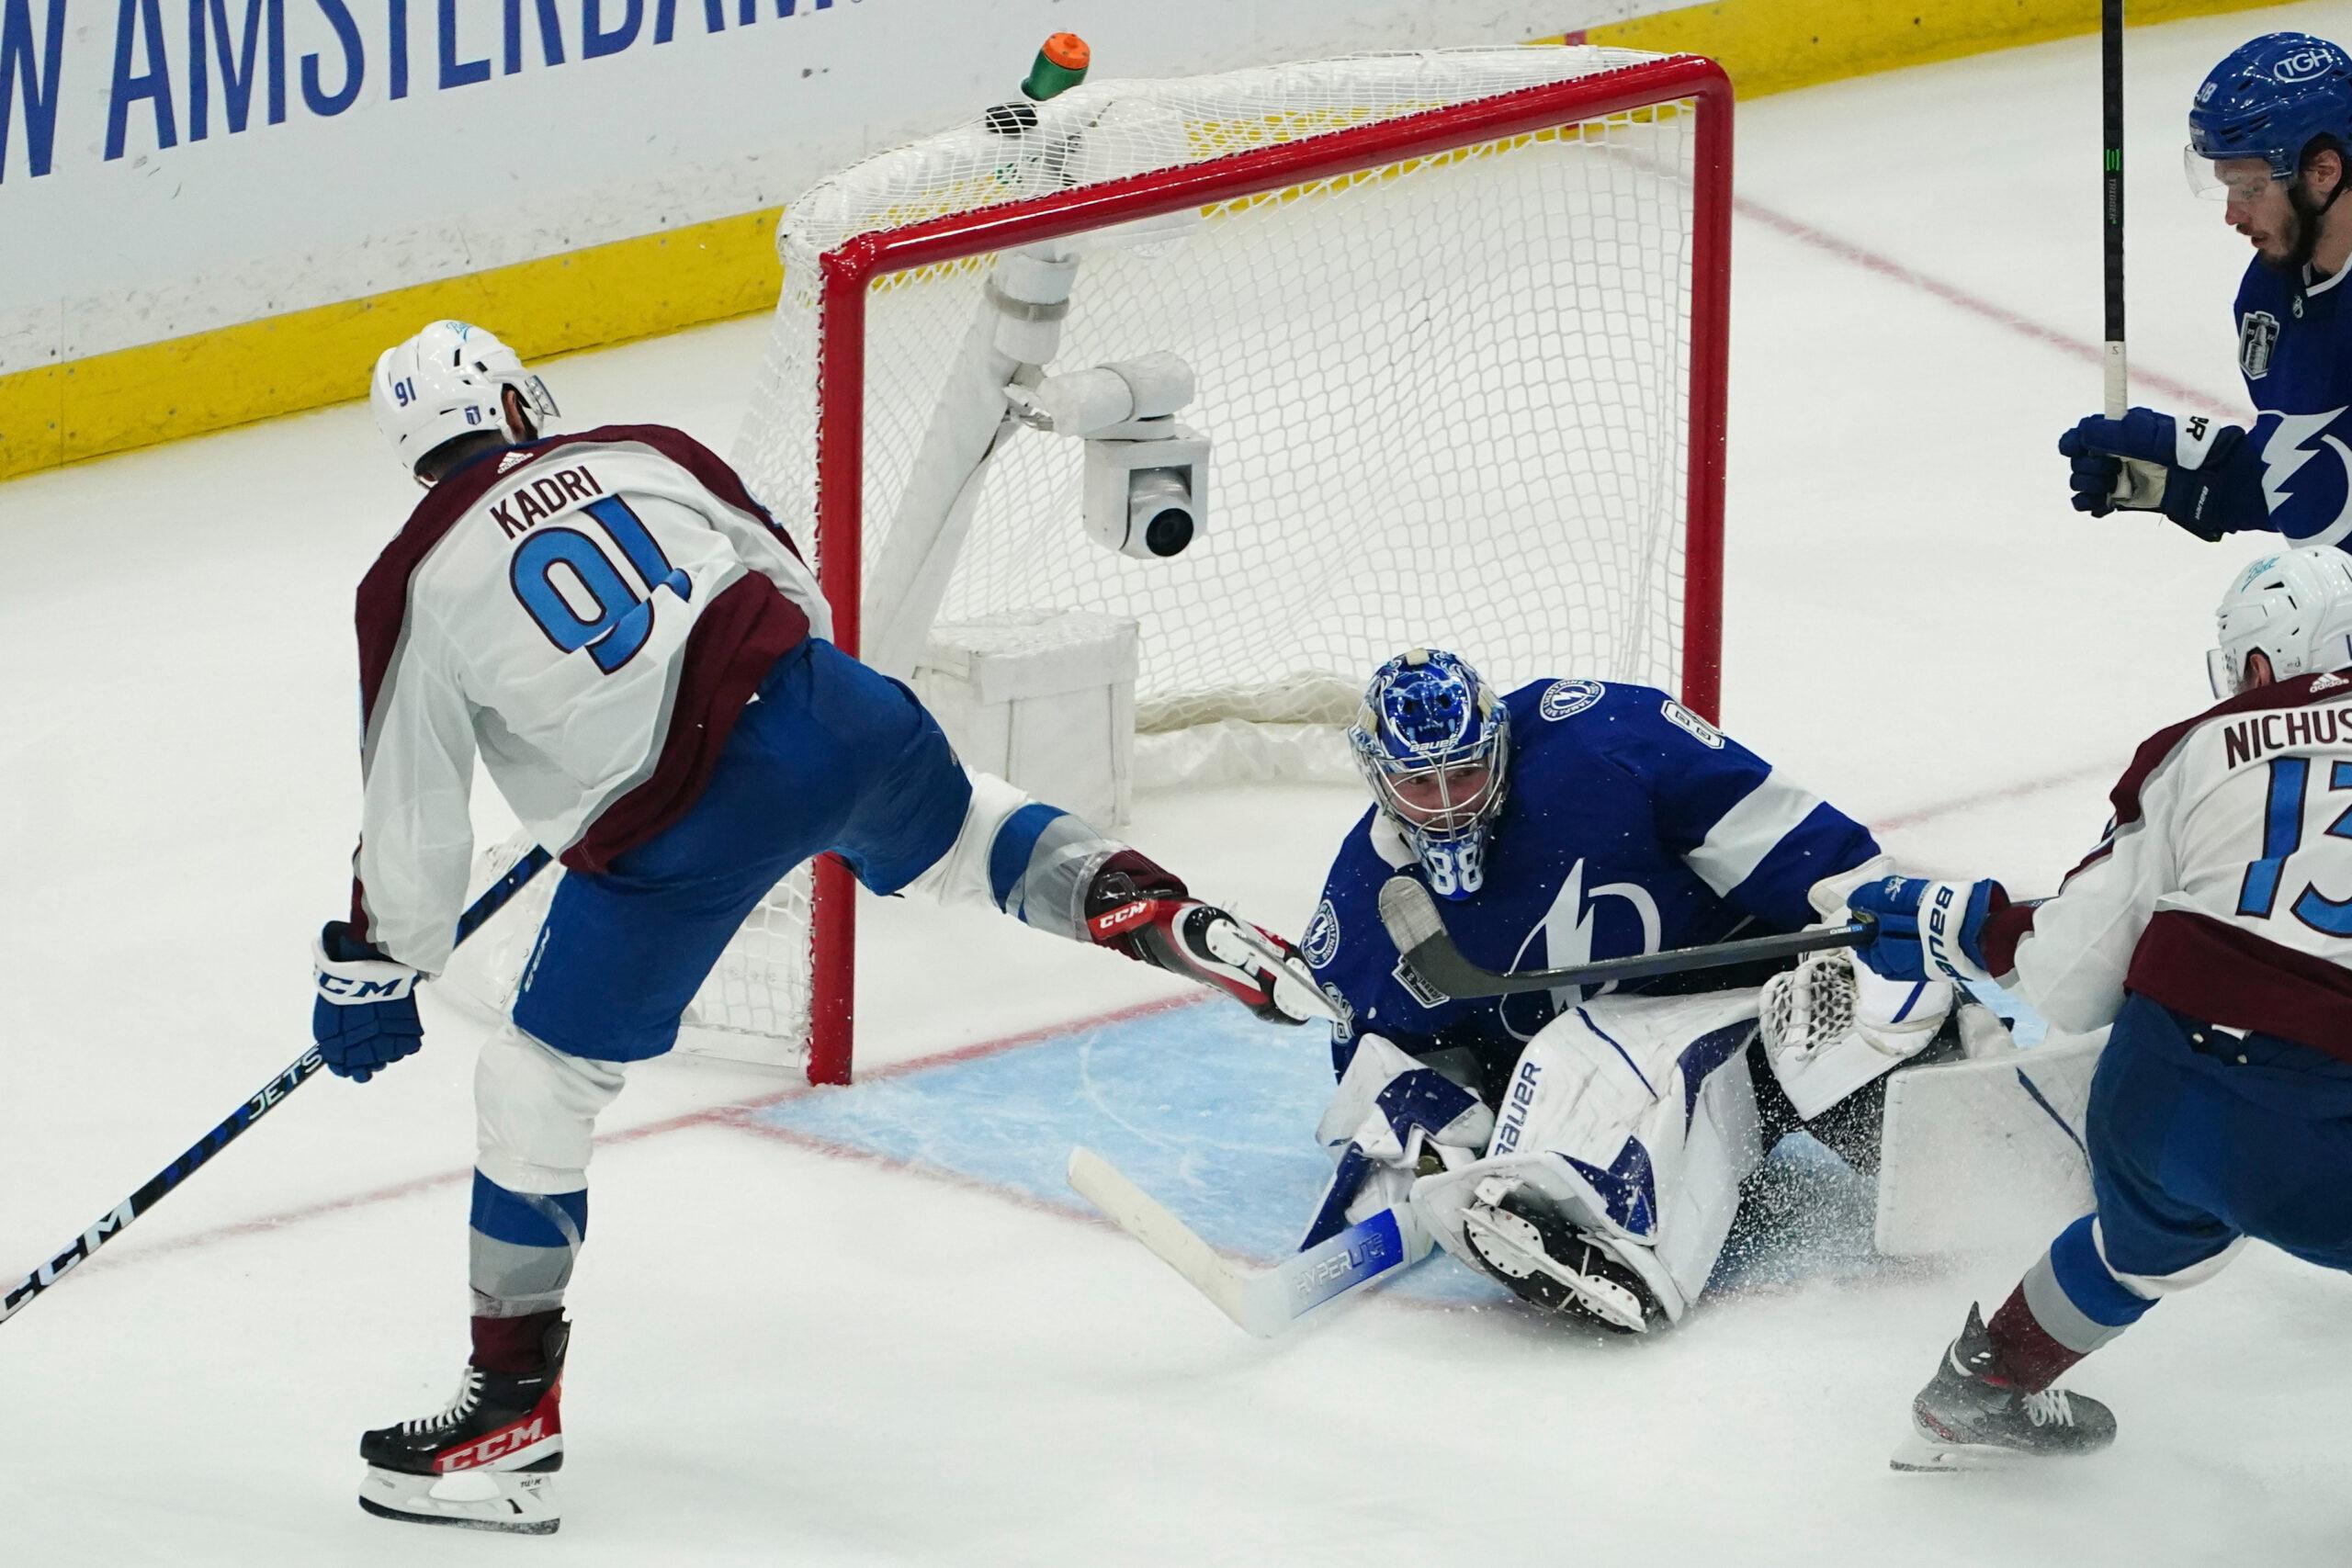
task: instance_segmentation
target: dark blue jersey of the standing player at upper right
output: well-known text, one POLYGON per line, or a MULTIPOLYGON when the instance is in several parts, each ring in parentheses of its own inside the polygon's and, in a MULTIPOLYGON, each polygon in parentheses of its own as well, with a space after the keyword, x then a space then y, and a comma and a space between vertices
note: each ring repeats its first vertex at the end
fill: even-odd
POLYGON ((2246 440, 2270 527, 2305 545, 2352 545, 2347 273, 2296 282, 2253 261, 2237 289, 2237 369, 2260 409, 2246 440))

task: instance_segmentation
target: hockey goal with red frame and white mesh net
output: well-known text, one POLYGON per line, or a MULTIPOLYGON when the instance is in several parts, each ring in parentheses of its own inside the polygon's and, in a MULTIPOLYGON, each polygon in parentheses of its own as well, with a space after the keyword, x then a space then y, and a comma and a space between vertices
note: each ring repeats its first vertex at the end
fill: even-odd
MULTIPOLYGON (((1054 369, 1169 350, 1197 376, 1202 536, 1171 559, 1091 543, 1080 442, 1023 433, 953 569, 929 562, 938 618, 1138 621, 1141 731, 1343 724, 1423 642, 1503 689, 1639 679, 1712 712, 1729 195, 1731 92, 1693 56, 1089 82, 790 205, 736 458, 858 651, 955 346, 1004 254, 1061 247, 1054 369)), ((755 912, 689 1025, 847 1081, 851 954, 828 858, 755 912)))

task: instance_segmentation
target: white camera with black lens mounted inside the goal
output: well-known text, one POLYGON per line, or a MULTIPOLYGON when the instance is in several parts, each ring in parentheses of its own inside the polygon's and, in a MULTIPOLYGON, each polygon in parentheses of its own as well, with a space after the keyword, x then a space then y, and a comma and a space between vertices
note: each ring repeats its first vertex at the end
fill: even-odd
POLYGON ((1207 524, 1209 437, 1176 423, 1192 367, 1171 353, 1007 388, 1023 423, 1087 442, 1087 536, 1136 559, 1183 555, 1207 524))

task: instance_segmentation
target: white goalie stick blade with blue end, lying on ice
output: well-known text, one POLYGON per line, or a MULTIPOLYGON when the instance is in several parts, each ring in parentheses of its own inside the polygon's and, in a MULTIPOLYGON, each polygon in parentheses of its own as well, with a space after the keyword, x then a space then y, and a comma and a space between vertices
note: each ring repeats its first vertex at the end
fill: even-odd
POLYGON ((1244 1269, 1094 1150, 1070 1150, 1070 1187, 1261 1340, 1430 1251, 1430 1237, 1409 1211, 1383 1208, 1270 1269, 1244 1269))

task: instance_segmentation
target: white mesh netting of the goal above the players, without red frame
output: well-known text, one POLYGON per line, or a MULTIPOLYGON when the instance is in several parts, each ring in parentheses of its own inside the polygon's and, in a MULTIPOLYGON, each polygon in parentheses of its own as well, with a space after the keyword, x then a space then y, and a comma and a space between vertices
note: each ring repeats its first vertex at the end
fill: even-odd
MULTIPOLYGON (((1021 146, 981 125, 873 158, 786 216, 783 301, 741 442, 816 529, 818 256, 851 235, 1585 78, 1621 49, 1468 49, 1103 82, 1021 146), (1058 139, 1056 139, 1058 136, 1058 139), (1056 155, 1061 148, 1065 153, 1056 155)), ((1141 562, 1080 529, 1080 444, 1021 435, 941 616, 1094 609, 1143 625, 1138 726, 1341 722, 1414 642, 1505 686, 1677 682, 1691 115, 1637 110, 1357 167, 1084 247, 1056 367, 1174 350, 1216 442, 1207 531, 1141 562)), ((990 254, 873 284, 863 552, 891 520, 990 254)), ((873 581, 873 578, 868 578, 873 581)))

